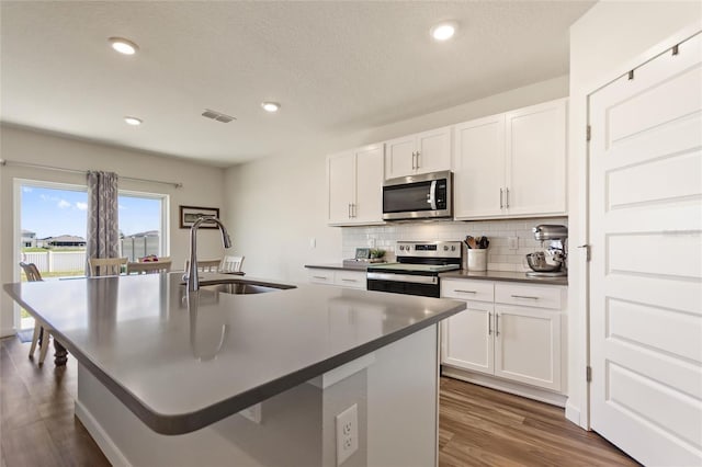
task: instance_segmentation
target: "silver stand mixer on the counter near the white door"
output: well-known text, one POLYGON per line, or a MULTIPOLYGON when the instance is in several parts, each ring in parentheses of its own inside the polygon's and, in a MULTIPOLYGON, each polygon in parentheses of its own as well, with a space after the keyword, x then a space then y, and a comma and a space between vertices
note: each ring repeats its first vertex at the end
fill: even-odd
POLYGON ((568 228, 541 224, 532 229, 534 239, 541 241, 544 251, 526 254, 526 263, 531 271, 529 276, 557 277, 568 274, 567 240, 568 228))

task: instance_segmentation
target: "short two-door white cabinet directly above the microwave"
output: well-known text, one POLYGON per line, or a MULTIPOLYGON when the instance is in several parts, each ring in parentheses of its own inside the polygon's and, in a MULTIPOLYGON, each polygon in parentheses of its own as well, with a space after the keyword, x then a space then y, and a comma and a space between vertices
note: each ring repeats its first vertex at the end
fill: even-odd
POLYGON ((385 178, 451 170, 451 127, 445 126, 385 143, 385 178))

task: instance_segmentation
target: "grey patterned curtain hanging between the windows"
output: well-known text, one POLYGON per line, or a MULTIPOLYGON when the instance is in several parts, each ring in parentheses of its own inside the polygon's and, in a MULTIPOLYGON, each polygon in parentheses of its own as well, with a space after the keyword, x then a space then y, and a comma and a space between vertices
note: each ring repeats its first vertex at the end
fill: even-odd
MULTIPOLYGON (((86 258, 118 258, 117 174, 88 172, 88 239, 86 258)), ((90 266, 86 262, 86 274, 90 266)))

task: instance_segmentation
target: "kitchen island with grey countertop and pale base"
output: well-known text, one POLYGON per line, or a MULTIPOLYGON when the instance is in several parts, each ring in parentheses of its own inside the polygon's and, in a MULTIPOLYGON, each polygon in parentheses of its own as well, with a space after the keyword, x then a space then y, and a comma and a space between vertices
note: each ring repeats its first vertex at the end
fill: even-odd
MULTIPOLYGON (((201 284, 227 280, 241 281, 201 284)), ((245 294, 189 294, 178 273, 4 288, 78 360, 76 415, 114 465, 332 466, 351 407, 344 466, 435 464, 437 324, 463 303, 246 282, 245 294)))

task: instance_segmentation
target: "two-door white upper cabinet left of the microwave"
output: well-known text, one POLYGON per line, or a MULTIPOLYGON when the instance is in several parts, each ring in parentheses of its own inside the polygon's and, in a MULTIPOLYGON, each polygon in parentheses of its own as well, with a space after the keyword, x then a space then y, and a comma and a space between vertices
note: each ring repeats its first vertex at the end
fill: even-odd
POLYGON ((327 157, 330 225, 382 224, 383 146, 327 157))

